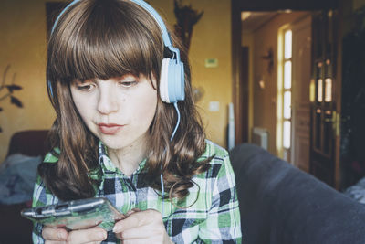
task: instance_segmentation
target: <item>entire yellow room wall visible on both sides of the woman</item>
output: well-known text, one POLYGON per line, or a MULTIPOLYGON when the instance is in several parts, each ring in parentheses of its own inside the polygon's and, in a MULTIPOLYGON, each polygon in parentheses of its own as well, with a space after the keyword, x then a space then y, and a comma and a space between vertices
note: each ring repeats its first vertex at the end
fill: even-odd
MULTIPOLYGON (((16 73, 16 84, 23 90, 15 93, 25 107, 17 109, 1 101, 0 162, 5 158, 13 133, 28 129, 47 129, 55 115, 47 99, 46 10, 45 0, 3 0, 0 4, 0 76, 10 64, 8 78, 16 73)), ((150 0, 170 25, 175 23, 173 1, 150 0)), ((227 104, 232 101, 231 4, 221 0, 184 0, 183 4, 203 10, 194 26, 190 48, 193 86, 203 87, 198 102, 208 138, 225 146, 227 104), (217 58, 218 68, 206 69, 205 58, 217 58), (209 101, 219 101, 220 111, 209 111, 209 101)), ((10 81, 10 79, 8 79, 10 81)), ((1 94, 0 94, 1 96, 1 94)))

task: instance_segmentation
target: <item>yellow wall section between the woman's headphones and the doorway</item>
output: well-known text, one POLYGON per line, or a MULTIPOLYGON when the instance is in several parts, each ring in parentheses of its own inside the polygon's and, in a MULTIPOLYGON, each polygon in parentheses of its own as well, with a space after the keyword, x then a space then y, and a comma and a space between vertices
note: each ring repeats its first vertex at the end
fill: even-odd
MULTIPOLYGON (((173 1, 151 0, 151 5, 174 25, 173 1)), ((202 101, 197 103, 203 116, 208 138, 226 146, 227 106, 232 101, 231 55, 231 4, 222 0, 184 0, 184 5, 204 11, 203 17, 193 28, 189 58, 192 65, 194 87, 203 87, 202 101), (205 58, 217 58, 218 67, 204 67, 205 58), (220 111, 209 111, 209 102, 219 101, 220 111)))

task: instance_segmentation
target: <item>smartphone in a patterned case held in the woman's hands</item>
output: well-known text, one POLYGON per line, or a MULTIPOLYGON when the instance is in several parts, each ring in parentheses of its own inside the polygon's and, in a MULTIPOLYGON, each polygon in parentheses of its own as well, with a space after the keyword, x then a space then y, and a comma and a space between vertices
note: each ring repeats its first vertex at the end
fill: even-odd
POLYGON ((116 220, 125 218, 105 197, 26 208, 21 211, 21 215, 49 227, 68 230, 99 226, 109 231, 116 220))

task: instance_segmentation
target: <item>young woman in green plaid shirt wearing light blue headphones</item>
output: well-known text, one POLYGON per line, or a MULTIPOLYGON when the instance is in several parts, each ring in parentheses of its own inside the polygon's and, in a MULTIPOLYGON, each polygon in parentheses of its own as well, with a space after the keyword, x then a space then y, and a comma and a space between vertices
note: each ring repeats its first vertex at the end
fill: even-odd
POLYGON ((229 156, 205 140, 187 60, 165 28, 141 0, 79 0, 58 16, 47 52, 53 150, 33 206, 102 196, 128 217, 112 231, 35 224, 35 243, 241 242, 229 156))

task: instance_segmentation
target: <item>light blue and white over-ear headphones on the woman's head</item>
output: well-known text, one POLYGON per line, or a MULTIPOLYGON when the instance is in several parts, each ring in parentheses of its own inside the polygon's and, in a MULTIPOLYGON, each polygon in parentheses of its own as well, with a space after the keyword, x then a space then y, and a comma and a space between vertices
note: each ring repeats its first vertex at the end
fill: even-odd
MULTIPOLYGON (((60 16, 62 16, 70 6, 75 5, 81 0, 74 0, 69 5, 67 5, 62 12, 57 16, 55 24, 52 27, 51 35, 57 27, 58 20, 60 16)), ((165 24, 162 21, 162 17, 156 12, 156 10, 148 5, 143 0, 130 0, 131 2, 140 5, 142 8, 147 10, 153 16, 157 24, 159 25, 162 31, 162 39, 163 44, 166 48, 172 52, 172 58, 163 58, 162 59, 162 69, 161 69, 161 79, 160 79, 160 97, 162 101, 167 103, 175 103, 177 101, 183 101, 185 99, 185 79, 184 79, 184 70, 183 70, 183 62, 180 59, 180 50, 178 48, 174 48, 172 46, 172 41, 167 31, 165 24)), ((51 82, 47 81, 48 90, 50 90, 51 95, 53 96, 51 82)))

